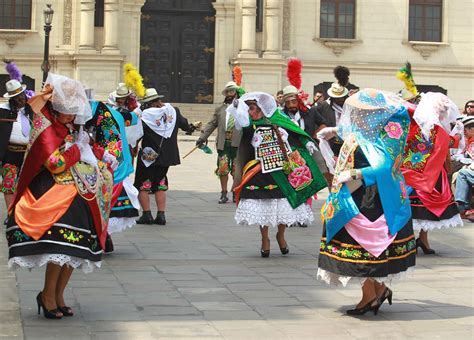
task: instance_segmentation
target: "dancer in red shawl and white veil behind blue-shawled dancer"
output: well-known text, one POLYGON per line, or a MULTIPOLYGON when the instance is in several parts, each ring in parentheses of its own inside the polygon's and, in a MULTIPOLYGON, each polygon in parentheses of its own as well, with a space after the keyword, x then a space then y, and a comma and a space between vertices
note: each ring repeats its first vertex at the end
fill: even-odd
POLYGON ((413 116, 402 171, 413 188, 413 228, 420 230, 416 245, 425 254, 434 254, 428 231, 463 225, 448 179, 449 149, 459 147, 463 125, 456 123, 458 108, 442 93, 422 94, 416 109, 412 105, 409 111, 413 116))

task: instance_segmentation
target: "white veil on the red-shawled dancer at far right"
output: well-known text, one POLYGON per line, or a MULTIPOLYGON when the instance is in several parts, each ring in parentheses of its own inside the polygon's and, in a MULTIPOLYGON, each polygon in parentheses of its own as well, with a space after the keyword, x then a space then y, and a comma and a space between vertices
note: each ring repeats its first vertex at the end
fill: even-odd
POLYGON ((451 123, 460 117, 459 109, 446 95, 438 92, 427 92, 421 95, 413 119, 421 128, 421 132, 429 138, 431 129, 435 125, 441 126, 448 134, 451 132, 451 123))

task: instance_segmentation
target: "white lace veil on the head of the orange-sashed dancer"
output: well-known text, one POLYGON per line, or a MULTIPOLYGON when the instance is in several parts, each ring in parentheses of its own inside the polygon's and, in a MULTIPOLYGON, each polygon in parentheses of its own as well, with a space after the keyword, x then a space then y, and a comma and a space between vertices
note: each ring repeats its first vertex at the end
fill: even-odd
POLYGON ((92 109, 80 81, 49 73, 46 84, 53 87, 51 103, 54 110, 66 115, 76 115, 74 123, 79 125, 84 125, 92 118, 92 109))

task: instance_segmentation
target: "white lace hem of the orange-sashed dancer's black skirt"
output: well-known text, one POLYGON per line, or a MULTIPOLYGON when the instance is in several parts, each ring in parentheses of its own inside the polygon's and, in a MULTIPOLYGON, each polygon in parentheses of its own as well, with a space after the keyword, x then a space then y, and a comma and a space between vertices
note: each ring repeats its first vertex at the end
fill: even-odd
POLYGON ((40 254, 12 257, 8 260, 8 268, 28 268, 31 270, 35 267, 42 267, 50 262, 59 266, 68 265, 74 269, 80 268, 85 274, 91 273, 94 268, 100 268, 101 266, 101 261, 94 262, 64 254, 40 254))

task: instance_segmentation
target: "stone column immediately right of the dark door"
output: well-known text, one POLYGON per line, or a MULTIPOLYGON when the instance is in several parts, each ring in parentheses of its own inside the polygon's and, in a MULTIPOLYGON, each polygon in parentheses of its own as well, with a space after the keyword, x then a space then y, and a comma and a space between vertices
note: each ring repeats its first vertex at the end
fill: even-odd
POLYGON ((239 57, 257 58, 255 50, 255 31, 257 17, 257 1, 242 1, 242 44, 239 57))

